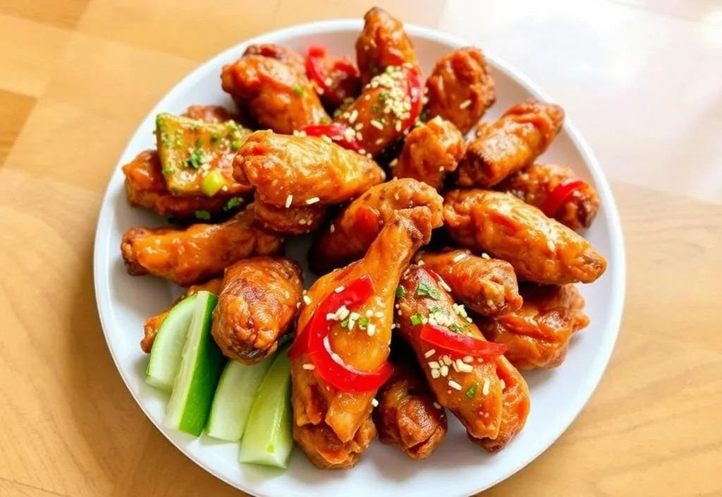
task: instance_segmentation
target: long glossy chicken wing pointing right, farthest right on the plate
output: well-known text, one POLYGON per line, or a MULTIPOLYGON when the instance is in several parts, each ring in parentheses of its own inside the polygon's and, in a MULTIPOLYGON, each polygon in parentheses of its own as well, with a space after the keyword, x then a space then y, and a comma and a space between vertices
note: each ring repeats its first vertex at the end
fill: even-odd
POLYGON ((519 280, 591 283, 606 270, 606 259, 585 238, 510 194, 449 191, 444 220, 457 243, 504 259, 519 280))

